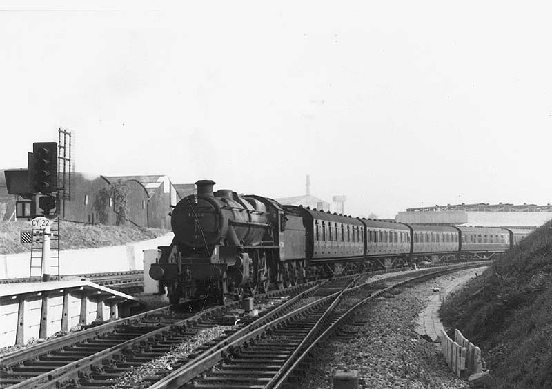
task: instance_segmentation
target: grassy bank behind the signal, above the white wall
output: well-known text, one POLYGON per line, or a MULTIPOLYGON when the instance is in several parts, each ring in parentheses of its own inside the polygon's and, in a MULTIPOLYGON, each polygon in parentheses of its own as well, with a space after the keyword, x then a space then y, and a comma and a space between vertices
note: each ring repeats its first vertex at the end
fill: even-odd
MULTIPOLYGON (((135 226, 102 226, 71 223, 59 223, 61 250, 71 248, 97 248, 144 241, 166 235, 170 231, 161 228, 137 228, 135 226)), ((19 243, 19 232, 30 230, 28 221, 0 221, 0 254, 12 254, 30 250, 30 245, 19 243)))

